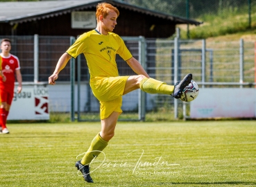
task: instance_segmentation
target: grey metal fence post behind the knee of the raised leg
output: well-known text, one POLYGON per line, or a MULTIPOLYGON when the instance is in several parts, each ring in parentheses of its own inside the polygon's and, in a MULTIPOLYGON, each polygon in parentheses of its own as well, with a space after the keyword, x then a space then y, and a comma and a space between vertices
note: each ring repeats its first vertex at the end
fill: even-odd
MULTIPOLYGON (((143 36, 139 36, 139 62, 146 70, 146 40, 143 36)), ((139 120, 145 121, 146 115, 146 93, 139 90, 139 120)))

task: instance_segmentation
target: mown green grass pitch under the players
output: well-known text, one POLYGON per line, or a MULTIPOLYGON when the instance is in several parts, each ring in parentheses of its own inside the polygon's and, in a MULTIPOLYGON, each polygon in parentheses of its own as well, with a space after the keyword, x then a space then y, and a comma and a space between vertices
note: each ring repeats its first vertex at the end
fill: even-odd
POLYGON ((100 127, 8 124, 0 186, 256 186, 255 121, 119 122, 87 184, 75 162, 100 127))

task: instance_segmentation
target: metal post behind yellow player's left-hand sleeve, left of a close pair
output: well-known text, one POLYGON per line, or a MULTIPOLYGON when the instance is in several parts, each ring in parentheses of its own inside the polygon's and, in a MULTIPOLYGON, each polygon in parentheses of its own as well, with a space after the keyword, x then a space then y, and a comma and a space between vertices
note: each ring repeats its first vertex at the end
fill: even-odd
MULTIPOLYGON (((74 44, 75 37, 70 37, 70 45, 74 44)), ((75 59, 71 57, 70 61, 70 83, 71 83, 71 109, 70 120, 75 121, 75 59)))

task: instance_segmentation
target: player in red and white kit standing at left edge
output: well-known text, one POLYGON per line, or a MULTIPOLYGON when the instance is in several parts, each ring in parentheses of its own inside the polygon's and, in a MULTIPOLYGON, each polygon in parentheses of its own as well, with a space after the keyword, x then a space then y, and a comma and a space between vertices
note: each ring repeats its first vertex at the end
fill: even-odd
POLYGON ((2 72, 5 78, 0 76, 0 125, 1 134, 8 134, 6 127, 6 118, 9 114, 10 105, 15 88, 15 75, 19 85, 17 87, 17 94, 22 91, 22 73, 20 72, 19 59, 15 55, 10 54, 11 42, 10 39, 1 40, 1 58, 2 58, 2 72), (6 79, 6 81, 4 81, 6 79))

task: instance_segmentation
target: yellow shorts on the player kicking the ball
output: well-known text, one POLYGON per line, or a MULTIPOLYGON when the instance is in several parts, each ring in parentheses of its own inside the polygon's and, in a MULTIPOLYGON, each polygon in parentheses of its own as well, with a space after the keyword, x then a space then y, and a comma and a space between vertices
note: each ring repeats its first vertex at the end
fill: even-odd
POLYGON ((108 118, 112 112, 123 112, 122 96, 128 78, 129 76, 91 78, 89 84, 92 93, 101 104, 101 119, 108 118))

